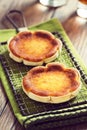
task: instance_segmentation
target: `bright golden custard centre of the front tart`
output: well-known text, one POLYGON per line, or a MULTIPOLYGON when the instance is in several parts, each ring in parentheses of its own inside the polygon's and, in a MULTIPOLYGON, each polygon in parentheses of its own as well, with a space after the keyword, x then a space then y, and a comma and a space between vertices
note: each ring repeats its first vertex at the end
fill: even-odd
POLYGON ((72 82, 62 72, 46 72, 37 74, 31 79, 35 90, 43 91, 45 95, 64 95, 71 91, 72 82))

